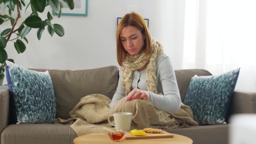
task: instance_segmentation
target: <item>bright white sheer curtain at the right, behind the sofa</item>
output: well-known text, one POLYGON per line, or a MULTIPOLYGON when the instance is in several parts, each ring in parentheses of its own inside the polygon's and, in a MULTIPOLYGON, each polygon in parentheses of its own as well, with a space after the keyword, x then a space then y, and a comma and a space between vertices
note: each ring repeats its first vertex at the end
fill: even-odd
POLYGON ((182 69, 240 67, 236 89, 256 91, 256 0, 186 0, 182 69))

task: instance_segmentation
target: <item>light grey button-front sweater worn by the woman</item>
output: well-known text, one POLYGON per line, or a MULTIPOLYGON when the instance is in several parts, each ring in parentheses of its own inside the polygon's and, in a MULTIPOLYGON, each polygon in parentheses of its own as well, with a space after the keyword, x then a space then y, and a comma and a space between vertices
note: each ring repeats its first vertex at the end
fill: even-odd
MULTIPOLYGON (((121 69, 120 69, 121 75, 121 69)), ((156 75, 157 75, 157 91, 163 93, 158 95, 147 90, 146 86, 146 69, 141 72, 135 70, 133 72, 132 89, 139 88, 148 91, 149 101, 154 107, 164 112, 175 112, 181 107, 181 97, 177 85, 174 69, 171 64, 170 58, 161 53, 156 60, 156 75)), ((114 102, 122 99, 125 96, 121 88, 121 78, 119 78, 117 91, 115 92, 109 107, 114 106, 114 102)))

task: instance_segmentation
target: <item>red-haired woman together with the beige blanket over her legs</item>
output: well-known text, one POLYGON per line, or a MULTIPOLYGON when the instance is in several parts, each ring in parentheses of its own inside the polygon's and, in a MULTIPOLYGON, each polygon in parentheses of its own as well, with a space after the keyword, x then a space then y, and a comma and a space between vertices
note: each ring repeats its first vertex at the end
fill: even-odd
MULTIPOLYGON (((117 91, 109 104, 111 109, 105 105, 109 102, 107 96, 85 96, 70 112, 74 119, 79 117, 72 128, 79 135, 88 134, 84 131, 86 124, 106 125, 104 122, 115 112, 132 113, 131 129, 198 125, 192 110, 181 103, 171 61, 162 45, 150 36, 144 19, 137 13, 126 14, 117 27, 116 37, 121 69, 117 91), (81 117, 86 122, 81 122, 81 117)), ((99 126, 89 126, 91 132, 101 132, 99 126)))

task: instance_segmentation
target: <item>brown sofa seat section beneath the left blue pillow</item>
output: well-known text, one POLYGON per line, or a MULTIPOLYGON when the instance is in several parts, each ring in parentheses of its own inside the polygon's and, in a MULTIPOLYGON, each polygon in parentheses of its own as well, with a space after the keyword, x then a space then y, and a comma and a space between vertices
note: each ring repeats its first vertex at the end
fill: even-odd
POLYGON ((73 144, 76 137, 69 124, 8 125, 1 134, 1 144, 73 144))

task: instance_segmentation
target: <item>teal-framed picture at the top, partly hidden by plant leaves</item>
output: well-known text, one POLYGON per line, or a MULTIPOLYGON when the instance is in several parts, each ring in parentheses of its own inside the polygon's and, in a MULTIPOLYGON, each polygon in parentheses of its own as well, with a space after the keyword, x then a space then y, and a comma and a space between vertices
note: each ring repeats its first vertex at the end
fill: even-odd
MULTIPOLYGON (((61 0, 63 5, 61 8, 61 16, 87 16, 88 15, 88 0, 74 0, 74 9, 70 10, 67 4, 61 0)), ((52 11, 53 15, 56 13, 52 11)))

